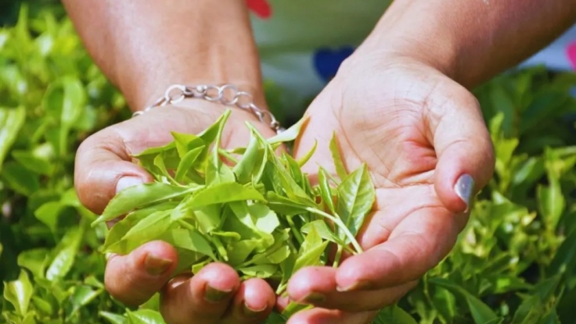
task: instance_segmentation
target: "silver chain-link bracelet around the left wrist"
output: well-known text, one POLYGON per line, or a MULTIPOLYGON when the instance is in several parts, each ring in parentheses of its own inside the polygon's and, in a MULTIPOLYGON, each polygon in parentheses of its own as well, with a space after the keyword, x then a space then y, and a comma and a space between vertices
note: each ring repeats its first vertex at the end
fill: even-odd
POLYGON ((166 89, 164 97, 158 99, 145 110, 134 112, 132 117, 139 116, 155 107, 179 103, 184 100, 184 98, 200 98, 224 105, 235 105, 238 108, 252 112, 252 114, 258 117, 261 123, 269 125, 276 134, 284 131, 283 127, 280 126, 280 123, 271 112, 256 107, 250 93, 239 91, 238 88, 232 84, 224 84, 223 86, 184 86, 183 84, 173 84, 166 89))

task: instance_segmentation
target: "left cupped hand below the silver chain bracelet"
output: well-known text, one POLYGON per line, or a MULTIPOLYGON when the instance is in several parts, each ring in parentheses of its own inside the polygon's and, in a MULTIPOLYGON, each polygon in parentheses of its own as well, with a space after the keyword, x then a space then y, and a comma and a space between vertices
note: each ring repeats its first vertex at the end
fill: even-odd
MULTIPOLYGON (((117 192, 152 176, 132 162, 131 155, 173 140, 170 132, 202 132, 226 107, 200 99, 165 106, 112 125, 82 142, 75 163, 80 201, 99 214, 117 192), (180 105, 185 105, 182 107, 180 105)), ((265 136, 272 129, 249 112, 234 108, 222 136, 224 147, 245 146, 245 121, 254 121, 265 136)), ((160 312, 168 324, 261 323, 272 311, 274 290, 262 279, 241 282, 228 265, 213 263, 193 277, 173 273, 176 250, 166 242, 149 242, 126 256, 113 255, 106 264, 105 284, 119 301, 138 306, 161 292, 160 312), (178 275, 171 279, 173 275, 178 275)))

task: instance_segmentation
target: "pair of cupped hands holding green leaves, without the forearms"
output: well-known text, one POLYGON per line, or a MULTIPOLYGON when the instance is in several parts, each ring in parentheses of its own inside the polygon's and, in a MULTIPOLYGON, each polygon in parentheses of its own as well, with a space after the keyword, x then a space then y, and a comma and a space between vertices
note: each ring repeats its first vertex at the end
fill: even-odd
MULTIPOLYGON (((171 140, 170 132, 202 131, 226 107, 201 100, 158 108, 86 139, 77 152, 75 184, 80 200, 101 212, 117 191, 152 181, 130 155, 171 140), (185 107, 184 107, 185 106, 185 107)), ((364 253, 337 269, 309 267, 293 275, 293 301, 315 308, 289 324, 365 324, 377 310, 406 294, 452 249, 468 220, 468 205, 493 172, 492 142, 475 97, 435 68, 407 57, 347 60, 311 103, 310 119, 296 142, 298 157, 318 141, 304 166, 333 171, 328 142, 337 132, 347 169, 368 164, 376 204, 359 232, 364 253)), ((245 145, 244 121, 266 125, 235 110, 223 145, 245 145)), ((149 242, 128 256, 112 256, 106 288, 123 303, 139 305, 161 292, 169 324, 261 323, 287 300, 261 279, 241 282, 226 264, 211 264, 193 277, 171 281, 176 251, 149 242)))

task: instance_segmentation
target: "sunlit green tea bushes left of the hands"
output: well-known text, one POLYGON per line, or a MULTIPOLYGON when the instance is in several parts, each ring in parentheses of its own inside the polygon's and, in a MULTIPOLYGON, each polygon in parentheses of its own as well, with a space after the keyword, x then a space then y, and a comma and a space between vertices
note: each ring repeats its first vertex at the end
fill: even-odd
MULTIPOLYGON (((103 233, 73 190, 78 143, 126 118, 71 23, 51 12, 0 29, 0 277, 9 323, 100 323, 103 233)), ((129 115, 128 115, 129 116, 129 115)))

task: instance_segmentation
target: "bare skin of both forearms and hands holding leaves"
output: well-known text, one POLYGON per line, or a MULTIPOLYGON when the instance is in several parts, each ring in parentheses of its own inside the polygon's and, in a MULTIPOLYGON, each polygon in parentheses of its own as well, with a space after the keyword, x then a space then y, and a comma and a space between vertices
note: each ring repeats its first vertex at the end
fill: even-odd
MULTIPOLYGON (((66 0, 95 62, 132 110, 149 105, 169 84, 236 84, 265 108, 259 60, 243 1, 66 0), (219 3, 222 2, 222 3, 219 3), (219 8, 219 10, 213 10, 219 8)), ((300 156, 318 140, 305 168, 331 171, 326 151, 337 132, 348 169, 368 164, 376 205, 358 239, 365 253, 346 256, 337 269, 310 267, 289 282, 289 298, 311 301, 289 324, 370 323, 375 310, 400 299, 451 251, 468 220, 470 201, 455 184, 462 175, 480 190, 494 156, 479 106, 467 90, 513 66, 559 36, 576 20, 573 0, 396 0, 361 47, 311 103, 298 138, 300 156), (320 298, 319 298, 320 297, 320 298)), ((77 152, 75 184, 88 208, 101 212, 116 192, 151 181, 130 155, 170 140, 169 132, 200 132, 225 107, 184 100, 112 125, 77 152)), ((224 145, 244 145, 244 121, 273 132, 235 110, 224 145)), ((160 291, 169 324, 261 323, 278 298, 262 280, 240 282, 225 264, 168 281, 177 256, 165 242, 149 242, 128 256, 111 256, 106 288, 139 305, 160 291), (213 290, 220 290, 219 301, 213 290), (248 315, 248 307, 255 312, 248 315), (255 313, 255 314, 254 314, 255 313)))

